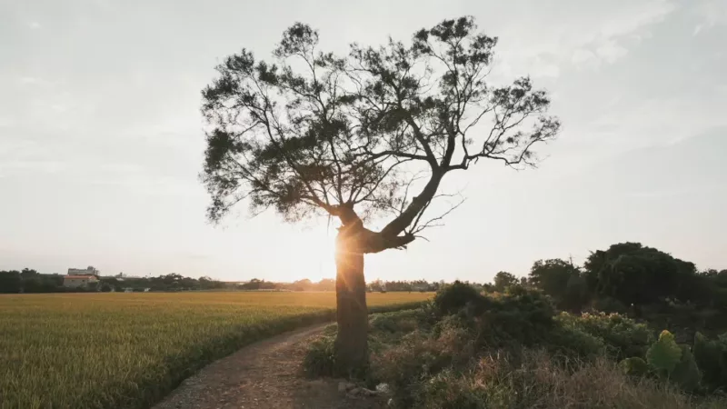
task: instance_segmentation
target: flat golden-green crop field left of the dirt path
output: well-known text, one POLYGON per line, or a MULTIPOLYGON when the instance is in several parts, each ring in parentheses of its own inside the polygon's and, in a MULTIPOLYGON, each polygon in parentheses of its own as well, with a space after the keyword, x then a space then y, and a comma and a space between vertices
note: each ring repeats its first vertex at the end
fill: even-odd
MULTIPOLYGON (((372 310, 431 294, 368 294, 372 310)), ((334 318, 333 293, 0 295, 0 408, 147 407, 216 358, 334 318)))

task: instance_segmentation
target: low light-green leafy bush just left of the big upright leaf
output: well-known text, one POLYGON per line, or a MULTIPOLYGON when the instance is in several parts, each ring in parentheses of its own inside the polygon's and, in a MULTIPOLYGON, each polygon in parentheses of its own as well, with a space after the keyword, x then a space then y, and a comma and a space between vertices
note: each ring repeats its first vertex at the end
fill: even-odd
POLYGON ((557 321, 563 326, 577 328, 603 339, 609 353, 618 361, 632 356, 644 356, 654 341, 648 326, 637 324, 621 314, 562 313, 558 315, 557 321))

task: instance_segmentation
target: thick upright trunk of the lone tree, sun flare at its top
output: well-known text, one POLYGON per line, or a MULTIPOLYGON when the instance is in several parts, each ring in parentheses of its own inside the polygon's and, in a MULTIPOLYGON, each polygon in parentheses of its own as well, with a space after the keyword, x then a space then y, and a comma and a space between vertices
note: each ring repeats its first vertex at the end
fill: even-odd
POLYGON ((335 298, 338 334, 336 366, 343 374, 362 374, 368 364, 368 308, 364 280, 362 235, 357 224, 344 226, 336 237, 335 298))

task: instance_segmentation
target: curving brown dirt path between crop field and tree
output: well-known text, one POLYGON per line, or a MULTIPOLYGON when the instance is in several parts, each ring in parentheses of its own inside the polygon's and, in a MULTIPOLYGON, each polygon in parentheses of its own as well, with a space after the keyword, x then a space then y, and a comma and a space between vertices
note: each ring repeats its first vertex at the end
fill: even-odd
POLYGON ((209 364, 154 409, 383 408, 381 398, 351 398, 333 379, 305 379, 305 346, 325 324, 281 334, 209 364))

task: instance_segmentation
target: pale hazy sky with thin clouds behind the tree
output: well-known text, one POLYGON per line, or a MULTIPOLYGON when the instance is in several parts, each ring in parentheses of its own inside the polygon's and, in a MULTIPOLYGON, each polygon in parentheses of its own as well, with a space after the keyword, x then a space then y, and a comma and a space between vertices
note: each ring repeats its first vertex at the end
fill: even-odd
POLYGON ((500 38, 496 75, 552 93, 563 131, 537 169, 447 179, 464 204, 368 255, 367 279, 486 282, 625 241, 727 268, 727 1, 0 0, 0 270, 334 277, 336 222, 206 221, 200 91, 296 21, 343 53, 461 15, 500 38))

